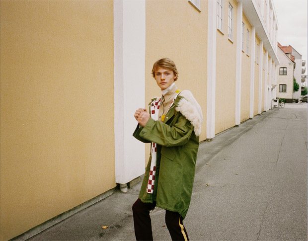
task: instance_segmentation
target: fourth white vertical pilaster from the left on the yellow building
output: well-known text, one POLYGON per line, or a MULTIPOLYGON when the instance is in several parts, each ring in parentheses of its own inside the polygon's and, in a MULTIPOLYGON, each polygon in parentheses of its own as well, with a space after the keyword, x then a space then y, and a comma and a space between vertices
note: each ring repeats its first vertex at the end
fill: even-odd
POLYGON ((250 106, 249 106, 249 118, 253 118, 253 106, 254 106, 254 61, 255 61, 255 34, 256 28, 251 28, 251 54, 250 54, 250 106))

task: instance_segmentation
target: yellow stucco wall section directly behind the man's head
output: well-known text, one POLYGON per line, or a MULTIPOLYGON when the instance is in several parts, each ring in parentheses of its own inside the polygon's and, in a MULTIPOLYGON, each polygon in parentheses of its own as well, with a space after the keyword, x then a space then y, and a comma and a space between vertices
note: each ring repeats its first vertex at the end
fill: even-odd
POLYGON ((201 0, 200 5, 201 12, 187 0, 146 1, 145 105, 154 96, 161 95, 151 75, 154 62, 170 58, 179 72, 178 88, 189 89, 201 105, 204 117, 202 141, 206 139, 207 0, 201 0))

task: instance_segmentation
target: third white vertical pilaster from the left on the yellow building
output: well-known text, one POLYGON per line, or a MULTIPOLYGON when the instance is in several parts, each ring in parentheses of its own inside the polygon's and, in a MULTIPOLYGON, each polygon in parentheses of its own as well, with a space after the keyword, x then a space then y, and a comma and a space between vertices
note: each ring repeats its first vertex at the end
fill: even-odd
POLYGON ((242 66, 242 19, 243 5, 242 2, 237 4, 236 17, 236 72, 235 72, 235 125, 240 124, 240 91, 241 91, 241 66, 242 66))

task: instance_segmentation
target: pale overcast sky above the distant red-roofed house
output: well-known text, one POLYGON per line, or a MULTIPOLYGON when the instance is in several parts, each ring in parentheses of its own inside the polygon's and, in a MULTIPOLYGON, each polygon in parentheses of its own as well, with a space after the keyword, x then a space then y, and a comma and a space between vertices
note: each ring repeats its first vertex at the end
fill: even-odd
POLYGON ((296 49, 306 60, 307 69, 307 0, 273 1, 278 19, 278 42, 296 49))

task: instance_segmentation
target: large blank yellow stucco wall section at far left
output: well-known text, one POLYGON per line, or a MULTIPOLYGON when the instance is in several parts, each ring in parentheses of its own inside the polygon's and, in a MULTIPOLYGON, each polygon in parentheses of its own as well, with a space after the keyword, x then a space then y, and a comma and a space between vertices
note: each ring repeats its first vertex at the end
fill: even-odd
POLYGON ((112 9, 0 1, 0 240, 115 187, 112 9))

